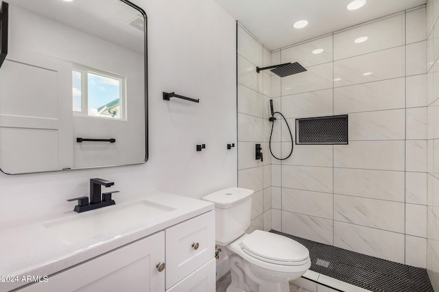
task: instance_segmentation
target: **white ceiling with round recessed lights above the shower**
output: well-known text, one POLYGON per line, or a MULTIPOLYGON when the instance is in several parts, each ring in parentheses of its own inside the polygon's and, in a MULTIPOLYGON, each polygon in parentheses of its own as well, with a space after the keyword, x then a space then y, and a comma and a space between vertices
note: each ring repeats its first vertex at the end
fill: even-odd
POLYGON ((427 0, 366 0, 358 10, 351 0, 215 0, 271 51, 365 21, 400 12, 427 0), (306 19, 307 27, 294 29, 306 19))

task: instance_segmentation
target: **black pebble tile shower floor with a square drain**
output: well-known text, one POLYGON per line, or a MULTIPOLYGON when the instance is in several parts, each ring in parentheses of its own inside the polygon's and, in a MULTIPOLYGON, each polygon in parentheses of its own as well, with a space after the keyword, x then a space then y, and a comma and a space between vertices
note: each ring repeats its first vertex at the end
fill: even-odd
POLYGON ((310 269, 319 274, 370 291, 434 292, 425 269, 351 252, 276 230, 270 232, 289 237, 305 245, 311 256, 310 269))

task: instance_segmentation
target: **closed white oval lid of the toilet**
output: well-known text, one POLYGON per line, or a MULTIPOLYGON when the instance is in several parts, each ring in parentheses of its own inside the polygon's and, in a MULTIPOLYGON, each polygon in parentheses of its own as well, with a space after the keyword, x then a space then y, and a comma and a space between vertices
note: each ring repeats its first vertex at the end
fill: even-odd
POLYGON ((242 241, 244 252, 266 261, 281 265, 300 265, 309 258, 309 251, 293 239, 254 230, 242 241))

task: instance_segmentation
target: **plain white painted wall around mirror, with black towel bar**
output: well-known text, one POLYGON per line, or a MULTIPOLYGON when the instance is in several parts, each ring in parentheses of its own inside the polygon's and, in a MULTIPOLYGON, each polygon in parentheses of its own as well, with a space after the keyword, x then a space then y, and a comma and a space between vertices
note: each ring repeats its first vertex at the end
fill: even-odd
MULTIPOLYGON (((237 185, 236 27, 213 0, 133 1, 148 16, 150 158, 141 165, 8 176, 0 174, 0 225, 73 210, 89 178, 115 182, 115 197, 160 189, 192 198, 237 185), (200 103, 171 99, 173 92, 200 103), (206 144, 202 152, 196 144, 206 144)), ((104 8, 103 8, 104 9, 104 8)))

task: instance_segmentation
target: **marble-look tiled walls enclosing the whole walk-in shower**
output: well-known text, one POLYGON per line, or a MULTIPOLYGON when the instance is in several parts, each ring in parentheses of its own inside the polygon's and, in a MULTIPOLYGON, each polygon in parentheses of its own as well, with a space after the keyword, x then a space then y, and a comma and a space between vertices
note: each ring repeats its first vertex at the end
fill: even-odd
MULTIPOLYGON (((427 268, 439 289, 438 5, 275 51, 238 23, 238 184, 255 190, 252 228, 427 268), (255 70, 286 62, 307 72, 255 70), (272 158, 270 99, 294 137, 296 118, 348 114, 348 145, 294 143, 292 157, 272 158)), ((276 118, 272 151, 285 157, 276 118)))

